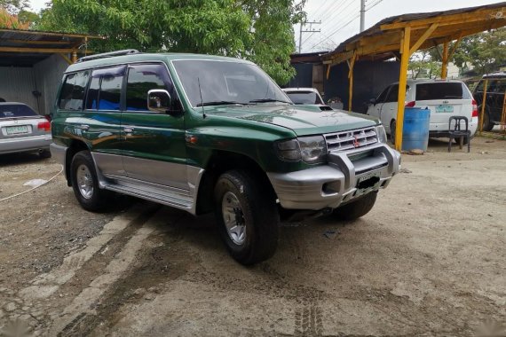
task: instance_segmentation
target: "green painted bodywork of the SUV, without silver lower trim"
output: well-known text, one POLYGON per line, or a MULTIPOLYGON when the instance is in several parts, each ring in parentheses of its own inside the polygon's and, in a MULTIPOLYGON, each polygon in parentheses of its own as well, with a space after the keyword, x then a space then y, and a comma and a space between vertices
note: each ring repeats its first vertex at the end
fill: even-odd
POLYGON ((306 169, 309 165, 278 159, 273 149, 275 141, 360 129, 379 123, 362 114, 320 111, 318 106, 275 102, 206 106, 202 111, 202 108, 194 108, 187 101, 171 63, 176 59, 250 63, 209 55, 143 53, 76 63, 68 67, 66 73, 128 63, 163 62, 176 86, 183 111, 178 114, 68 112, 55 107, 55 114, 52 114, 54 142, 70 145, 73 139, 78 139, 94 152, 188 164, 204 169, 217 151, 225 151, 249 157, 266 172, 289 172, 306 169), (83 124, 89 125, 90 129, 86 132, 78 129, 83 124), (134 130, 126 134, 124 128, 129 126, 134 130), (188 141, 191 137, 193 143, 188 141))

